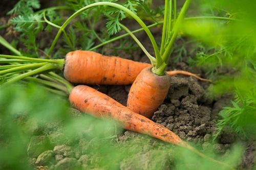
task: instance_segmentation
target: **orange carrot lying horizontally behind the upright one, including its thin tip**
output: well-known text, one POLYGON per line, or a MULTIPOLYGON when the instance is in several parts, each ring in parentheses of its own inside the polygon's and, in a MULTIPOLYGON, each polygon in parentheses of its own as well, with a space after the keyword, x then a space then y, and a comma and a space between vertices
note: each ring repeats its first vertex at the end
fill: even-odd
MULTIPOLYGON (((72 83, 127 85, 132 84, 145 67, 151 67, 151 64, 103 56, 91 51, 74 51, 66 55, 64 77, 72 83)), ((208 81, 182 70, 168 71, 167 74, 188 75, 208 81)))

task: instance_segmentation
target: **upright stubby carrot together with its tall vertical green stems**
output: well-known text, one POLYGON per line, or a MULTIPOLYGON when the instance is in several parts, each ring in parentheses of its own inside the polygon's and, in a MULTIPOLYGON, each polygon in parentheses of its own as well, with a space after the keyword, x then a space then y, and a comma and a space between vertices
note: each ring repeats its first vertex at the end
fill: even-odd
MULTIPOLYGON (((128 95, 127 107, 132 111, 138 112, 151 118, 153 113, 164 101, 170 83, 163 81, 166 79, 166 67, 169 62, 170 54, 173 51, 173 44, 178 35, 178 30, 184 19, 191 0, 186 0, 178 17, 172 23, 172 1, 165 1, 164 23, 162 29, 162 39, 160 51, 156 54, 156 60, 152 63, 152 68, 143 69, 134 81, 128 95), (147 79, 151 79, 148 81, 147 79)), ((176 15, 176 13, 174 13, 176 15)), ((151 56, 148 57, 151 59, 151 56)), ((169 77, 167 77, 169 78, 169 77)))

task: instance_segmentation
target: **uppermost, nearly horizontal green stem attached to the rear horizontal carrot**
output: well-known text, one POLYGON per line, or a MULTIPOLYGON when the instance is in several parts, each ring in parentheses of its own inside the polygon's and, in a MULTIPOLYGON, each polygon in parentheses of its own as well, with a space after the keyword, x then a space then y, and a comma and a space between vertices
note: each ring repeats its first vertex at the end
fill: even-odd
POLYGON ((0 58, 19 59, 19 60, 27 60, 27 61, 34 61, 34 62, 58 63, 58 64, 65 63, 64 59, 49 60, 49 59, 31 58, 31 57, 24 57, 24 56, 11 56, 11 55, 3 55, 3 54, 0 54, 0 58))

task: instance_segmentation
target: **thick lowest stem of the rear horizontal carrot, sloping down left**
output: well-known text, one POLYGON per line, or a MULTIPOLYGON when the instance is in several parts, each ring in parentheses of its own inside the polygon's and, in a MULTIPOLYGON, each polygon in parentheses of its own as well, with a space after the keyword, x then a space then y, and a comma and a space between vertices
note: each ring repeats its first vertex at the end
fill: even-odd
POLYGON ((8 80, 5 84, 10 84, 10 83, 14 83, 14 82, 17 82, 19 80, 22 80, 26 77, 29 77, 29 76, 33 76, 33 75, 37 75, 41 72, 44 72, 44 71, 49 71, 49 70, 52 70, 52 69, 57 69, 59 68, 59 65, 57 64, 52 64, 52 63, 49 63, 49 64, 46 64, 44 66, 41 66, 37 69, 34 69, 32 71, 29 71, 29 72, 26 72, 24 74, 21 74, 21 75, 18 75, 10 80, 8 80))

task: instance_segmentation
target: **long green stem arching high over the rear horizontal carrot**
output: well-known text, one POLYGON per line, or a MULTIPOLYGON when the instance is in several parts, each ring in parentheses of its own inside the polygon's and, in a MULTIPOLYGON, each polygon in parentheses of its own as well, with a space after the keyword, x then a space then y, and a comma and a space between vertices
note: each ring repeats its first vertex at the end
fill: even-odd
POLYGON ((150 30, 146 27, 145 23, 135 13, 133 13, 131 10, 123 7, 122 5, 115 4, 115 3, 110 3, 110 2, 93 3, 93 4, 90 4, 90 5, 86 6, 86 7, 81 8, 80 10, 76 11, 73 15, 71 15, 63 23, 63 25, 61 26, 61 29, 59 29, 57 35, 55 36, 55 38, 54 38, 54 40, 53 40, 53 42, 52 42, 52 44, 50 46, 49 52, 48 52, 49 56, 53 52, 53 48, 54 48, 55 44, 57 43, 57 40, 59 39, 59 37, 60 37, 60 35, 62 33, 62 30, 67 27, 67 25, 70 23, 70 21, 73 18, 75 18, 76 16, 78 16, 81 12, 86 11, 86 10, 88 10, 88 9, 90 9, 92 7, 96 7, 96 6, 110 6, 110 7, 114 7, 114 8, 120 9, 120 10, 124 11, 125 13, 129 14, 130 16, 132 16, 139 23, 139 25, 144 29, 144 31, 146 32, 146 34, 150 38, 150 40, 152 42, 152 45, 153 45, 153 48, 154 48, 154 51, 155 51, 155 54, 156 54, 156 60, 158 61, 157 63, 161 63, 162 59, 161 59, 161 56, 160 56, 160 52, 158 50, 158 46, 157 46, 156 40, 155 40, 154 36, 152 35, 152 33, 150 32, 150 30))

